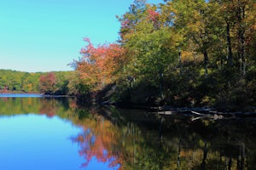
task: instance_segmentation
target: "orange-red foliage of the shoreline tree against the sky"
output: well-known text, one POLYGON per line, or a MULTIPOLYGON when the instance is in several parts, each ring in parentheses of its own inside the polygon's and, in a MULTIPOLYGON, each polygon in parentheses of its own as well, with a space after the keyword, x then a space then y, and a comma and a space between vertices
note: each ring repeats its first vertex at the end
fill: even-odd
POLYGON ((80 50, 82 58, 73 64, 93 90, 102 89, 115 81, 114 73, 119 68, 123 49, 115 43, 95 47, 88 37, 84 41, 88 44, 80 50))

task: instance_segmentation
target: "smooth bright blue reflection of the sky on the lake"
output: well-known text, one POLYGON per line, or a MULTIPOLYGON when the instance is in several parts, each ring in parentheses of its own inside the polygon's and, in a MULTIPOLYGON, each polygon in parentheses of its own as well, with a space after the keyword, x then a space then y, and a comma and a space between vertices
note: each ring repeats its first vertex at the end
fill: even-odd
MULTIPOLYGON (((84 169, 79 145, 71 140, 81 132, 57 116, 0 116, 0 169, 84 169)), ((108 169, 108 163, 94 157, 86 169, 108 169)))

